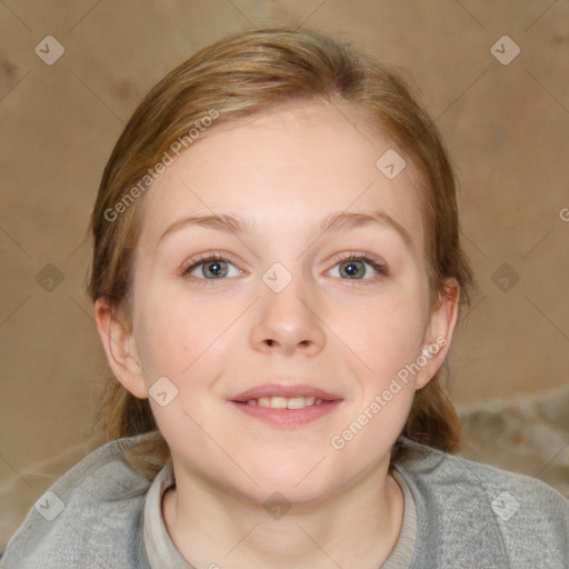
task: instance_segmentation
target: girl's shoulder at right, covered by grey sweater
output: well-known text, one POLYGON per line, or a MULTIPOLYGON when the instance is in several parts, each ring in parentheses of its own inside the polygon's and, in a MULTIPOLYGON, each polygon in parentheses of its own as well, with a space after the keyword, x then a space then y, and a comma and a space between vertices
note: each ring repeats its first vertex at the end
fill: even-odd
MULTIPOLYGON (((402 442, 409 458, 397 468, 442 542, 478 547, 512 567, 569 566, 569 500, 560 492, 536 478, 402 442)), ((423 538, 435 533, 426 529, 423 538)))

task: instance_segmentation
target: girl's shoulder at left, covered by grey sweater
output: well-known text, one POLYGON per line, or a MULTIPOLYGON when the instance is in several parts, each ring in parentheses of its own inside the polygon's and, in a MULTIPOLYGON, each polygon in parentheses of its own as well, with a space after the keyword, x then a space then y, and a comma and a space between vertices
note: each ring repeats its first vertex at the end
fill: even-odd
POLYGON ((0 566, 66 568, 99 559, 101 567, 128 567, 137 559, 150 481, 126 462, 123 449, 139 438, 103 445, 57 480, 10 539, 0 566))

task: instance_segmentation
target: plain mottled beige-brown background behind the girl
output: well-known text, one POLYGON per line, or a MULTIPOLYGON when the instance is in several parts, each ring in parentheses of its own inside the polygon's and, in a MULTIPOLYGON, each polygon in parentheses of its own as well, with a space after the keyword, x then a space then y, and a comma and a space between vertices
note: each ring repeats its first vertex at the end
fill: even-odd
POLYGON ((480 286, 449 358, 463 453, 569 496, 567 1, 4 0, 0 546, 94 443, 109 371, 83 292, 84 239, 123 123, 194 50, 269 22, 351 40, 420 89, 459 173, 480 286), (48 34, 66 50, 52 66, 34 53, 48 34), (490 51, 505 34, 521 50, 508 66, 490 51), (63 278, 51 291, 41 286, 48 263, 63 278))

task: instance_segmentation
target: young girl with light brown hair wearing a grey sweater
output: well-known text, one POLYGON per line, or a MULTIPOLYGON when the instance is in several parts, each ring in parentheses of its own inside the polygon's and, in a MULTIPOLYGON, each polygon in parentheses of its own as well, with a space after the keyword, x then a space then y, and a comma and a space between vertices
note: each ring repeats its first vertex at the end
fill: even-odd
POLYGON ((569 502, 453 457, 472 274, 440 136, 307 30, 201 50, 104 170, 89 293, 110 442, 6 567, 563 568, 569 502))

